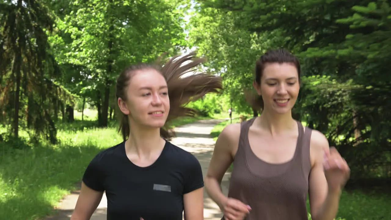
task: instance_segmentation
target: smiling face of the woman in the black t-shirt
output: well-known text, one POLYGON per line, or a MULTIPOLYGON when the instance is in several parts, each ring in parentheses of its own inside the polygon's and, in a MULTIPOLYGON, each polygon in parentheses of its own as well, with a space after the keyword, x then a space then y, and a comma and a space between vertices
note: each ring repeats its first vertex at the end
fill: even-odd
POLYGON ((133 123, 161 128, 170 111, 165 78, 154 69, 135 70, 127 86, 126 100, 118 98, 118 106, 133 123))

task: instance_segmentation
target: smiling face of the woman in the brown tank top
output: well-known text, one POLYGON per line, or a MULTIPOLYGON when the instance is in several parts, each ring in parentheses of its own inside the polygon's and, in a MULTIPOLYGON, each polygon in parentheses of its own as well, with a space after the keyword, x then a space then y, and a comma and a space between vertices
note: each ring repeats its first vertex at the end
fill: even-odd
POLYGON ((300 90, 298 70, 292 63, 265 63, 260 83, 253 83, 264 109, 278 114, 291 112, 300 90))

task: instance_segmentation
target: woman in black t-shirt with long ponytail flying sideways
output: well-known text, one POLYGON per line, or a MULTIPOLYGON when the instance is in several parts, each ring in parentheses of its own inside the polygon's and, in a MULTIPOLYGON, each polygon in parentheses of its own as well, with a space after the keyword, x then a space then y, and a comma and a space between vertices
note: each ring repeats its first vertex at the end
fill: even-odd
POLYGON ((163 67, 134 65, 120 74, 116 96, 124 141, 92 159, 71 220, 89 220, 104 191, 108 220, 182 220, 183 211, 187 220, 204 219, 199 161, 169 142, 174 135, 165 125, 194 114, 183 107, 191 98, 222 87, 221 78, 209 74, 181 77, 203 61, 193 58, 174 57, 163 67))

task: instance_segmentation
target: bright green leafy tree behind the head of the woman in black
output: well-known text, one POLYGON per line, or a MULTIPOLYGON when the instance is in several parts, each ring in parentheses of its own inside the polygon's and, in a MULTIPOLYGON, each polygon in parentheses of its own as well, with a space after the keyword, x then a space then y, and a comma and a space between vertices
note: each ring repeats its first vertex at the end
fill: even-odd
MULTIPOLYGON (((59 2, 59 4, 61 4, 59 2)), ((176 55, 185 45, 183 9, 169 0, 70 1, 69 13, 56 20, 50 41, 70 90, 97 106, 100 126, 115 108, 115 80, 127 66, 176 55)))

